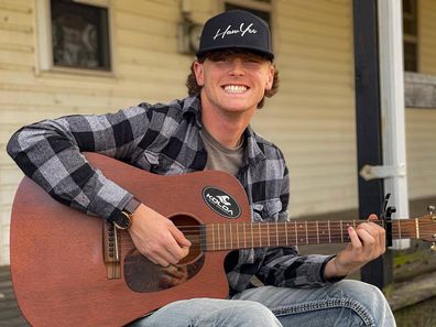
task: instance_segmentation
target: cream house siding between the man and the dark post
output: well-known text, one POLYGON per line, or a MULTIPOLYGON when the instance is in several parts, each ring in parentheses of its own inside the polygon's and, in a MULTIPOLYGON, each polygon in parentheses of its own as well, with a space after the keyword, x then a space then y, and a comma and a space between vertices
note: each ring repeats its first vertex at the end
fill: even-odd
POLYGON ((357 206, 351 1, 276 1, 280 91, 254 126, 283 150, 292 217, 357 206))

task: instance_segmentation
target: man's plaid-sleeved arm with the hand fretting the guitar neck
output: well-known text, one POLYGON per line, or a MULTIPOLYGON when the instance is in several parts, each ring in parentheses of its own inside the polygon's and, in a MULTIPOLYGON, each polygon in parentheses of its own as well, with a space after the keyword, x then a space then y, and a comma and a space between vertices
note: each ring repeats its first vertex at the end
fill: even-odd
MULTIPOLYGON (((285 170, 281 192, 280 220, 287 219, 288 175, 285 170)), ((263 283, 276 286, 319 286, 344 279, 385 251, 384 229, 371 220, 349 228, 351 242, 338 255, 299 255, 296 248, 271 248, 258 276, 263 283)))

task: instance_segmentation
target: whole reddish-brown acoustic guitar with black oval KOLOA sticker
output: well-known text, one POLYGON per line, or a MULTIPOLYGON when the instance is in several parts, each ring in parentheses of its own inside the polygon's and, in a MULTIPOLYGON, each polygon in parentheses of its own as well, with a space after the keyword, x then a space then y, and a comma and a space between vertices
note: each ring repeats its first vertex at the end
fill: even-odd
MULTIPOLYGON (((192 247, 161 268, 129 232, 51 198, 24 177, 11 218, 11 275, 32 326, 121 326, 171 302, 225 298, 226 255, 236 249, 348 242, 361 221, 251 222, 243 187, 222 172, 159 176, 99 154, 89 162, 184 232, 192 247)), ((395 219, 394 239, 434 241, 436 216, 395 219)))

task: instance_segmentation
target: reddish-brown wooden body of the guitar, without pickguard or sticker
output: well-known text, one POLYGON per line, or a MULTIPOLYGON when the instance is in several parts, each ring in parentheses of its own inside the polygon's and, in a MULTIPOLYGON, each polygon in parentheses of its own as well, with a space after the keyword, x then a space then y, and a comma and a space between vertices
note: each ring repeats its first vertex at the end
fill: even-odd
MULTIPOLYGON (((228 174, 159 176, 102 155, 86 156, 109 179, 170 219, 188 217, 198 226, 250 221, 247 195, 228 174), (239 218, 212 210, 201 195, 205 186, 231 195, 240 206, 239 218)), ((128 251, 121 251, 121 276, 108 279, 103 225, 101 218, 55 201, 31 179, 22 181, 12 208, 11 274, 19 306, 32 326, 121 326, 177 299, 228 295, 228 251, 201 252, 195 259, 201 260, 199 271, 186 282, 153 292, 133 291, 127 284, 128 251)))

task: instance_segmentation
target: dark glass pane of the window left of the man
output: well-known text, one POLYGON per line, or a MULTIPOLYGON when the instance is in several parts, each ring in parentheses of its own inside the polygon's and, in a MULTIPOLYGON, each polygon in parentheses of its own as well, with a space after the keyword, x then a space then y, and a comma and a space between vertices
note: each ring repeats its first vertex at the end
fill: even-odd
POLYGON ((110 70, 106 8, 51 0, 53 64, 110 70))

